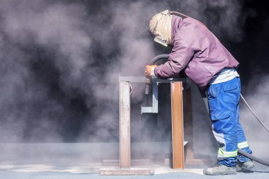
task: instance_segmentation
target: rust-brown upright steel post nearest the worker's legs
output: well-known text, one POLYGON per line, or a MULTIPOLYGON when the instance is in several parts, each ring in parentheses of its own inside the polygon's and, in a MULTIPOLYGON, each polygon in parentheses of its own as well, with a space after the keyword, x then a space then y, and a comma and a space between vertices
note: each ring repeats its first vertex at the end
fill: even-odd
POLYGON ((184 168, 182 82, 171 82, 173 169, 184 168))

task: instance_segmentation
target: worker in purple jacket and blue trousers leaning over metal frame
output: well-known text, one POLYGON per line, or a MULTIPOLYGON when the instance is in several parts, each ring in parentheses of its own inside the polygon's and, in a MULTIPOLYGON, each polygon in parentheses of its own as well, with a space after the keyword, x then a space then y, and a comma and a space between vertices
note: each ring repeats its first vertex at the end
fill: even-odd
POLYGON ((219 143, 218 164, 205 169, 207 175, 232 175, 249 170, 251 159, 237 154, 242 149, 252 154, 239 122, 239 62, 217 37, 200 21, 171 11, 156 14, 149 21, 154 41, 172 46, 168 61, 159 66, 147 65, 144 74, 168 79, 184 71, 202 91, 207 91, 212 131, 219 143), (174 13, 173 13, 174 14, 174 13))

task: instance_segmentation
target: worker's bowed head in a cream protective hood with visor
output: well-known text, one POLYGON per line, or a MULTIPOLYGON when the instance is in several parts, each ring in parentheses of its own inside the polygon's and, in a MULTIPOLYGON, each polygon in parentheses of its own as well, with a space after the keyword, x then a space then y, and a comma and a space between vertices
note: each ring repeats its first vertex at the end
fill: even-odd
POLYGON ((166 47, 171 45, 171 25, 171 11, 162 11, 153 16, 149 21, 149 31, 155 36, 154 41, 166 47))

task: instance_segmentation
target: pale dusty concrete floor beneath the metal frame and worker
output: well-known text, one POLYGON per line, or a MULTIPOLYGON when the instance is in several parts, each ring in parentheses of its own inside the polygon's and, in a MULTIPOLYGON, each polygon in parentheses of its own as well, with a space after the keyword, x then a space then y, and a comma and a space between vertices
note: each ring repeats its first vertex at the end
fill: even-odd
MULTIPOLYGON (((140 146, 140 144, 136 145, 140 146)), ((262 144, 259 144, 259 146, 262 146, 262 144)), ((154 175, 99 175, 99 168, 117 168, 117 161, 114 163, 114 166, 105 166, 103 161, 100 160, 100 158, 118 158, 117 147, 118 144, 108 143, 0 144, 0 178, 269 178, 269 173, 264 173, 269 171, 269 167, 262 166, 259 163, 256 163, 256 167, 253 168, 253 171, 256 172, 237 173, 237 175, 229 176, 208 176, 202 175, 203 168, 207 168, 207 166, 192 166, 185 170, 189 172, 173 171, 170 166, 164 163, 157 163, 156 161, 148 163, 149 166, 136 166, 136 168, 153 168, 154 175), (102 149, 110 149, 110 153, 104 152, 102 149), (193 170, 191 168, 200 169, 193 170)), ((161 154, 161 152, 166 154, 168 150, 166 149, 167 147, 162 148, 159 144, 151 143, 144 149, 144 152, 152 151, 151 148, 154 148, 156 154, 161 154)), ((262 149, 264 151, 260 149, 260 152, 256 153, 257 156, 263 156, 265 161, 269 161, 268 156, 264 156, 267 148, 262 147, 262 149)), ((147 160, 150 161, 151 158, 147 160)), ((161 159, 161 161, 164 160, 161 159)))

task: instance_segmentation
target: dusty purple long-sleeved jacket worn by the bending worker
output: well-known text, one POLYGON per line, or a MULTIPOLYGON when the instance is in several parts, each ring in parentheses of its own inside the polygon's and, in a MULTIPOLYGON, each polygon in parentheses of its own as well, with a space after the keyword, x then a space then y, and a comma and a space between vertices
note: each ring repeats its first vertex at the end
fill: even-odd
POLYGON ((172 18, 173 49, 165 64, 154 69, 161 79, 178 76, 181 70, 202 90, 222 71, 237 68, 239 62, 205 25, 193 18, 172 18))

